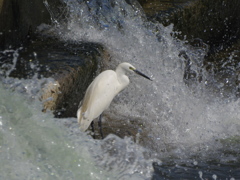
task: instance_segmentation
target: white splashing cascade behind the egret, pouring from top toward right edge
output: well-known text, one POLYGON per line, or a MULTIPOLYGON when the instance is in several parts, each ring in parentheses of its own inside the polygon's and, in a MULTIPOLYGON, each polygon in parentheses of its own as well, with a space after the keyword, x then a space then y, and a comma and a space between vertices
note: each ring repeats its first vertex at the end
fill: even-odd
POLYGON ((101 43, 111 52, 114 66, 128 61, 153 76, 153 83, 131 77, 134 85, 117 97, 109 112, 144 121, 142 129, 151 139, 148 147, 159 151, 166 145, 177 146, 174 150, 181 156, 189 155, 198 152, 199 144, 216 148, 215 141, 239 133, 239 100, 212 96, 204 83, 206 72, 194 90, 184 83, 180 52, 186 52, 197 69, 206 54, 204 48, 175 39, 173 25, 144 21, 141 11, 124 1, 67 2, 71 13, 67 24, 58 28, 61 38, 101 43))

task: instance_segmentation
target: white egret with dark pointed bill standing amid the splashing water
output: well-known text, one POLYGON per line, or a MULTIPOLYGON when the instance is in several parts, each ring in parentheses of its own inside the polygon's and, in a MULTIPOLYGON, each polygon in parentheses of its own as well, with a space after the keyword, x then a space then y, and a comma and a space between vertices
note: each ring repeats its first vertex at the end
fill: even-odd
MULTIPOLYGON (((100 133, 103 138, 101 129, 101 114, 108 109, 114 97, 125 89, 130 83, 127 72, 134 72, 148 80, 148 76, 138 71, 130 63, 124 62, 117 66, 116 70, 105 70, 101 72, 88 86, 83 100, 77 110, 77 119, 80 131, 88 129, 93 120, 99 117, 100 133)), ((92 124, 92 130, 93 124, 92 124)))

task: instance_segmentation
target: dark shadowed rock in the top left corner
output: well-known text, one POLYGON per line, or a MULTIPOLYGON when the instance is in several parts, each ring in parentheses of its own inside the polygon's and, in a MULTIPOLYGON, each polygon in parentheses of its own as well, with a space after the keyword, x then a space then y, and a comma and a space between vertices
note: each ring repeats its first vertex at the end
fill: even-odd
MULTIPOLYGON (((61 0, 48 1, 59 14, 64 6, 61 0)), ((51 23, 43 0, 0 0, 0 49, 26 43, 41 23, 51 23)))

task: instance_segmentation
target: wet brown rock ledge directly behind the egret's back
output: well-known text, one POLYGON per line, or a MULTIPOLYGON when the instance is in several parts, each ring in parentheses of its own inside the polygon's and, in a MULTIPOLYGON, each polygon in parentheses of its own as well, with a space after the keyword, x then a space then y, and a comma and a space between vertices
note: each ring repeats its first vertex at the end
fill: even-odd
POLYGON ((71 44, 39 38, 19 51, 16 69, 10 76, 53 78, 43 89, 43 111, 51 110, 56 117, 76 117, 85 90, 108 59, 107 51, 97 43, 71 44))

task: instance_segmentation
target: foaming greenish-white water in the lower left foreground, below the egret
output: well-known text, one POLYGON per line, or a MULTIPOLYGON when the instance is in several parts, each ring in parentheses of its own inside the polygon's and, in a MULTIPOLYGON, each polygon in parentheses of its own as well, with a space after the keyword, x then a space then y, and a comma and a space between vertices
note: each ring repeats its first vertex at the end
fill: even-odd
POLYGON ((99 142, 80 132, 75 118, 42 113, 42 89, 53 79, 39 79, 37 73, 31 79, 6 77, 15 69, 19 50, 8 53, 14 56, 1 72, 0 179, 151 177, 152 160, 145 159, 146 150, 131 138, 111 135, 99 142))

